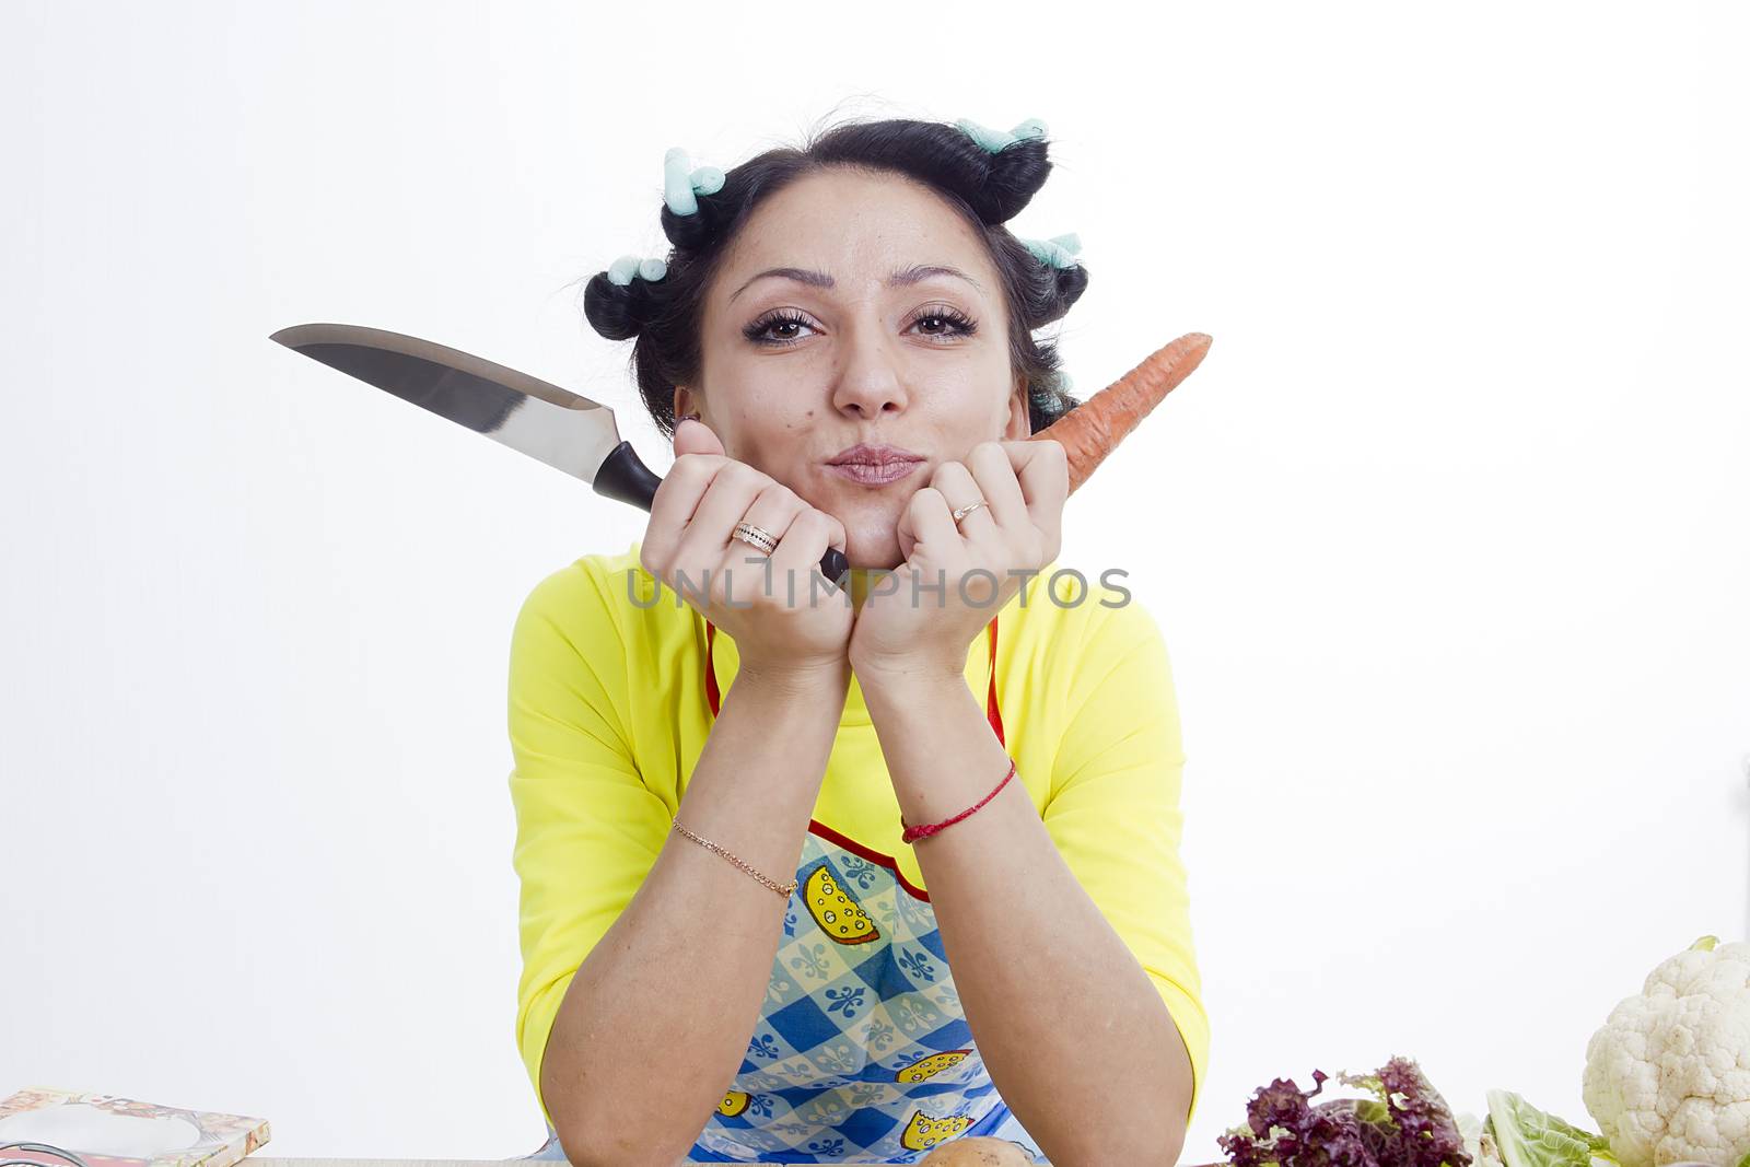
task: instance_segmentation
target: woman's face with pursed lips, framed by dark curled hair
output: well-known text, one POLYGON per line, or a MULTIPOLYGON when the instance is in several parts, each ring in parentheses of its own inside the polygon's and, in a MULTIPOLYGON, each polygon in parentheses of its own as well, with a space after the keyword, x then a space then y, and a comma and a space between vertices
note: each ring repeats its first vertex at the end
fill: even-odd
POLYGON ((852 567, 900 565, 900 516, 936 465, 1029 434, 998 273, 901 177, 828 170, 766 199, 707 290, 702 341, 702 385, 676 388, 676 416, 698 413, 728 457, 838 518, 852 567), (833 469, 859 443, 919 460, 889 481, 833 469))

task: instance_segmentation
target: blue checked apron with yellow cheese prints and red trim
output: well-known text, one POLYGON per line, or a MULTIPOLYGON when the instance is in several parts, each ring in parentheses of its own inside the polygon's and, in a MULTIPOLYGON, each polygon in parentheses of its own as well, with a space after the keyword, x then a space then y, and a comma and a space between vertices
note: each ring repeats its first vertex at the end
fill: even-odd
MULTIPOLYGON (((985 716, 996 700, 996 619, 985 716)), ((705 698, 718 716, 716 628, 705 698)), ((548 1144, 528 1158, 565 1158, 548 1144)), ((1038 1143, 998 1095, 961 1011, 929 894, 892 861, 808 822, 760 1020, 728 1094, 688 1151, 702 1164, 914 1164, 956 1137, 1038 1143)))

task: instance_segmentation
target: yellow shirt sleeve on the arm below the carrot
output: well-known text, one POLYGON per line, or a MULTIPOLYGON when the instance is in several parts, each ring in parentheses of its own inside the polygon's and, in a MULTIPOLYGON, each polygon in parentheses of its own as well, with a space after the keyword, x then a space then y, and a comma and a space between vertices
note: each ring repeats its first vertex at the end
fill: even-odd
POLYGON ((1134 598, 1101 605, 1088 623, 1041 814, 1178 1025, 1192 1066, 1190 1122, 1209 1066, 1209 1017, 1180 859, 1185 752, 1172 670, 1158 626, 1134 598))

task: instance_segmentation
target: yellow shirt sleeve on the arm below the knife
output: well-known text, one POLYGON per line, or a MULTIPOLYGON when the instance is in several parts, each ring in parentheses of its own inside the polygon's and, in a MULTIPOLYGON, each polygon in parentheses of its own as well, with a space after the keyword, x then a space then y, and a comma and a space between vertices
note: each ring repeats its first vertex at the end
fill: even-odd
POLYGON ((511 633, 509 738, 522 880, 516 1043, 541 1099, 541 1059, 583 959, 632 903, 672 815, 644 784, 625 728, 626 644, 584 562, 542 579, 511 633))

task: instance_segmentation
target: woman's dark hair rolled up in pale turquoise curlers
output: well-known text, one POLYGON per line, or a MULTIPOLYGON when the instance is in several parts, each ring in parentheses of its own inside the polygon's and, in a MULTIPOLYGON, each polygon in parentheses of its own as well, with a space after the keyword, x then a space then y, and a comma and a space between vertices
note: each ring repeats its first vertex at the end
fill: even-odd
POLYGON ((992 154, 956 124, 886 119, 835 126, 802 147, 777 147, 724 171, 714 194, 695 194, 698 210, 676 215, 662 206, 662 229, 674 245, 658 280, 634 276, 620 285, 606 271, 590 278, 583 313, 607 339, 637 338, 632 367, 656 427, 672 436, 674 388, 696 385, 704 348, 705 290, 728 245, 761 199, 828 168, 898 173, 926 184, 959 212, 985 241, 1008 306, 1010 369, 1027 385, 1032 432, 1073 409, 1069 378, 1055 343, 1032 331, 1059 320, 1087 289, 1082 264, 1041 262, 1003 224, 1013 219, 1052 173, 1045 138, 1017 138, 992 154))

